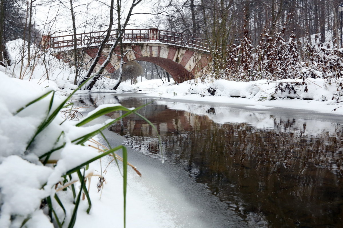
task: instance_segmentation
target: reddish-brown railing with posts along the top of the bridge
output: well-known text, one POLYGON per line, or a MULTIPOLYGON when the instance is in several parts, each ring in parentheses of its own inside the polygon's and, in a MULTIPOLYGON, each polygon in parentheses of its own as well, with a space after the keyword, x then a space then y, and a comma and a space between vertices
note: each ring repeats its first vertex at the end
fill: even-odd
MULTIPOLYGON (((98 45, 103 41, 107 31, 90 32, 76 34, 77 46, 92 46, 98 45)), ((116 30, 111 30, 108 43, 114 42, 117 38, 116 30)), ((43 35, 44 46, 51 48, 63 48, 74 46, 74 35, 54 36, 43 35)), ((184 33, 176 33, 157 28, 150 29, 125 29, 123 35, 124 42, 141 43, 151 40, 160 41, 162 43, 174 44, 180 46, 188 46, 202 50, 209 50, 209 45, 204 39, 193 37, 184 33)))

